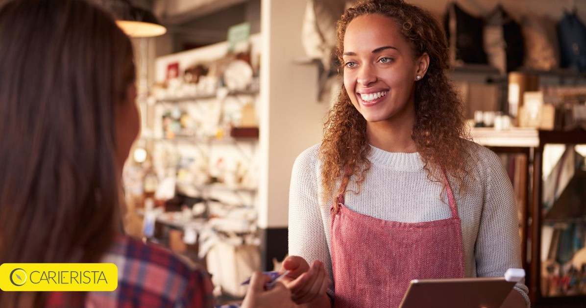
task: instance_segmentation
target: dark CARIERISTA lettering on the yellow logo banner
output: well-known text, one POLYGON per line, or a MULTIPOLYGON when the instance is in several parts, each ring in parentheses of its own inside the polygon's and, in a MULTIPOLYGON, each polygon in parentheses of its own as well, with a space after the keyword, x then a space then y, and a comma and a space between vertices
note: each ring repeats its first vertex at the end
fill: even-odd
POLYGON ((100 270, 84 270, 84 271, 58 271, 53 270, 39 272, 35 270, 30 273, 30 282, 32 283, 59 283, 62 285, 77 284, 77 285, 92 285, 100 282, 108 283, 104 272, 100 270))

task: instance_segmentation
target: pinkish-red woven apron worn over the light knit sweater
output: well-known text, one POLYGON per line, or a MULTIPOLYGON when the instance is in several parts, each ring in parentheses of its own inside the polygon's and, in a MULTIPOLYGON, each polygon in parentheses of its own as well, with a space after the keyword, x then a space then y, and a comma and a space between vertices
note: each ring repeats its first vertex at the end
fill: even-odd
MULTIPOLYGON (((334 307, 398 307, 413 279, 464 277, 458 208, 444 175, 448 219, 396 222, 332 207, 334 307)), ((345 191, 345 189, 343 190, 345 191)))

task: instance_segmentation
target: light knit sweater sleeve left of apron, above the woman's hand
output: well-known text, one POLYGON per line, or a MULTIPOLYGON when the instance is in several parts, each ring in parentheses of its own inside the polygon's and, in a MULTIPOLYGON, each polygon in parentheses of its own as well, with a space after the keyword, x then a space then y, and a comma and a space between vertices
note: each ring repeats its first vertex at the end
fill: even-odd
POLYGON ((289 255, 301 256, 309 265, 320 260, 328 273, 333 289, 332 261, 326 230, 319 204, 317 178, 318 146, 299 154, 291 174, 289 188, 289 255))

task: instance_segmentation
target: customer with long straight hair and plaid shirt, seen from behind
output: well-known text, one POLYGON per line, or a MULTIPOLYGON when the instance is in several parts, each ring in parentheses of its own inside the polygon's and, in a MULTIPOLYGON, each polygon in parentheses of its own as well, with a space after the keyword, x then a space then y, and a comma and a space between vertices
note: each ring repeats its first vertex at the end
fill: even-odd
MULTIPOLYGON (((213 306, 209 277, 122 235, 139 130, 130 39, 83 0, 0 8, 0 263, 115 263, 114 292, 0 292, 0 307, 213 306)), ((291 303, 255 273, 244 307, 291 303), (270 303, 270 304, 268 304, 270 303)))

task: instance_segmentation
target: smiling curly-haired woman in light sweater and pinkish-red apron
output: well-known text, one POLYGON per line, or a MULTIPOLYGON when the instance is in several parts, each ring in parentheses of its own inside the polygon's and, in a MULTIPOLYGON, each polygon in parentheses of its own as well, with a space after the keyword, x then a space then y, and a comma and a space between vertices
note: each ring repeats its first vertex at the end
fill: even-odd
MULTIPOLYGON (((329 280, 336 307, 397 307, 412 279, 519 268, 512 185, 496 154, 466 140, 435 18, 362 2, 338 22, 336 55, 343 86, 322 143, 292 172, 283 266, 295 302, 329 306, 329 280)), ((526 293, 517 284, 506 304, 529 306, 526 293)))

